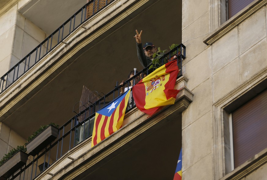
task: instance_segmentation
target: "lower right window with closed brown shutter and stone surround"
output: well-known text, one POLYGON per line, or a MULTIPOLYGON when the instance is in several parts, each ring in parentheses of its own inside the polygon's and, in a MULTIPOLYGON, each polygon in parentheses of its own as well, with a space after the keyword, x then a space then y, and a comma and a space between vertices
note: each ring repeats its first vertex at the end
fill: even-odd
POLYGON ((214 102, 213 118, 216 179, 243 179, 261 167, 267 159, 267 69, 214 102))

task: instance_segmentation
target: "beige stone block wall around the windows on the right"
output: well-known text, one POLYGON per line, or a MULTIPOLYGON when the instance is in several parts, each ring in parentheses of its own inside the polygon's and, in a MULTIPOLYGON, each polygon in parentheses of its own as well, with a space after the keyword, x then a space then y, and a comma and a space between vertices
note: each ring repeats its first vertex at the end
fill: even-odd
MULTIPOLYGON (((255 76, 267 67, 265 1, 254 1, 256 6, 261 4, 258 9, 245 8, 222 25, 220 2, 183 1, 182 43, 187 50, 183 75, 194 93, 193 102, 182 113, 183 179, 224 179, 232 171, 231 156, 221 144, 230 132, 224 131, 221 124, 225 117, 214 104, 241 95, 238 88, 246 84, 242 90, 249 89, 255 76), (249 15, 242 18, 245 12, 249 15), (238 17, 239 21, 235 20, 238 17), (216 41, 203 42, 222 31, 225 34, 216 41)), ((266 165, 246 179, 263 179, 253 174, 266 177, 264 169, 266 165)))

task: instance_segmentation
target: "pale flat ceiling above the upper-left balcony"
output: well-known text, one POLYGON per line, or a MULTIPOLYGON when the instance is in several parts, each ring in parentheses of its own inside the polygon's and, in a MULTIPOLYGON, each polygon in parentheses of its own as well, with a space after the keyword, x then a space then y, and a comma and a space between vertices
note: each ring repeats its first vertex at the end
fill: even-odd
POLYGON ((32 0, 19 12, 46 34, 52 34, 86 3, 87 0, 32 0))

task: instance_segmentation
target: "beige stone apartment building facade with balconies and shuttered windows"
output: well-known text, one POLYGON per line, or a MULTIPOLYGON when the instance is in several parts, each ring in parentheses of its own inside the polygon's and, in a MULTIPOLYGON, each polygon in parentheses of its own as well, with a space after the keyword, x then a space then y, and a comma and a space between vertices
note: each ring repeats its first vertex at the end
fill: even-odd
POLYGON ((0 157, 60 125, 9 179, 173 179, 181 148, 183 179, 267 176, 266 0, 0 3, 0 157), (152 116, 131 107, 91 148, 94 112, 143 69, 136 29, 161 50, 183 44, 180 92, 152 116), (80 103, 83 86, 98 101, 80 103))

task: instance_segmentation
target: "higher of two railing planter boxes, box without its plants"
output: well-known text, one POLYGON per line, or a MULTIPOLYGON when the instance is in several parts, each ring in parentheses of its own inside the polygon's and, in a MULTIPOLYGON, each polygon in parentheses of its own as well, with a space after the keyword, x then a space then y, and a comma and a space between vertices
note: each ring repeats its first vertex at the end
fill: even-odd
POLYGON ((41 150, 43 150, 48 144, 57 139, 58 128, 54 125, 48 126, 42 132, 40 132, 34 139, 32 139, 26 148, 29 155, 35 156, 41 150))

